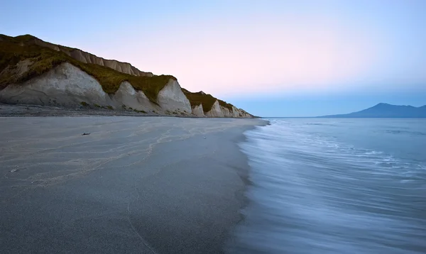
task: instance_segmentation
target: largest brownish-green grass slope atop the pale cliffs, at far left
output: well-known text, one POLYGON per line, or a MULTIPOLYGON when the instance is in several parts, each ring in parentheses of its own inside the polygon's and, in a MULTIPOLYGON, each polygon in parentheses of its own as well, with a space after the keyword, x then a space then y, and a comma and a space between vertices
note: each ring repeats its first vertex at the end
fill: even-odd
MULTIPOLYGON (((133 76, 102 65, 80 62, 62 51, 35 45, 31 43, 33 39, 35 37, 32 35, 16 37, 0 35, 0 89, 11 83, 25 82, 28 79, 40 76, 60 65, 62 62, 70 62, 72 65, 87 72, 87 74, 92 75, 102 85, 104 92, 108 94, 116 92, 121 82, 128 81, 135 89, 143 91, 153 103, 157 103, 158 92, 165 87, 165 84, 170 79, 176 80, 175 77, 170 75, 153 77, 133 76), (18 62, 22 60, 32 62, 26 72, 16 74, 16 72, 10 71, 16 68, 18 62)), ((67 48, 64 46, 60 47, 67 48)), ((74 50, 72 48, 67 49, 74 50)))

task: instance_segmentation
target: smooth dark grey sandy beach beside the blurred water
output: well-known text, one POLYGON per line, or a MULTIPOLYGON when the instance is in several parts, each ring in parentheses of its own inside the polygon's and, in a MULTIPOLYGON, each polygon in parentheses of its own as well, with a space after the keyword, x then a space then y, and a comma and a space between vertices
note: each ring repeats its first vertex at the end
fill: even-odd
POLYGON ((0 253, 222 253, 263 123, 0 118, 0 253))

